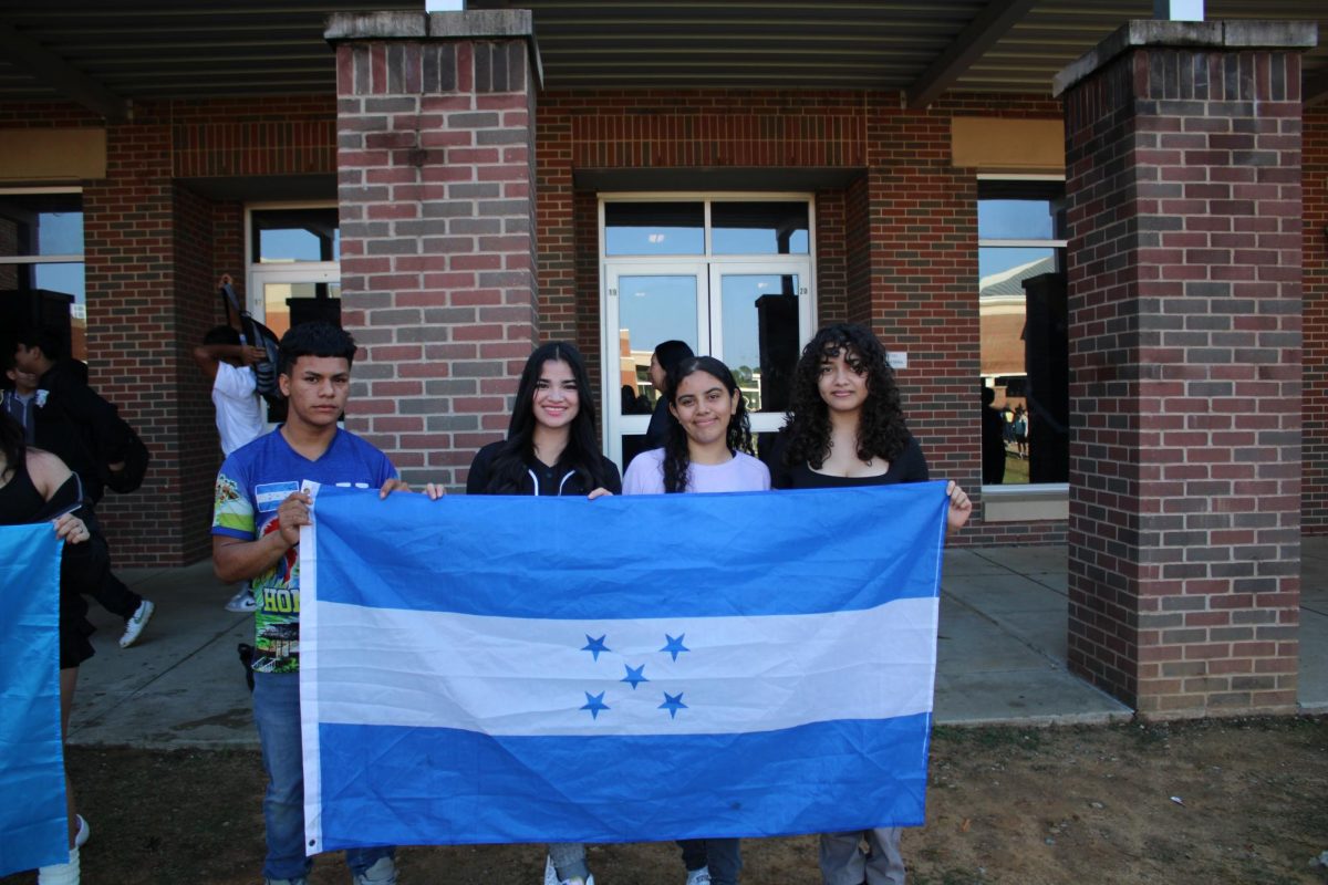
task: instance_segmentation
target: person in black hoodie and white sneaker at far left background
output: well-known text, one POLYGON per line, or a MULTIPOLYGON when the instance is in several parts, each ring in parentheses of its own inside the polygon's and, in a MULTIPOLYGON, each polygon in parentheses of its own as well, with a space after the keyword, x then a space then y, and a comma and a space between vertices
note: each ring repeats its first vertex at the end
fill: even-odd
MULTIPOLYGON (((66 358, 60 336, 46 329, 25 329, 16 344, 15 368, 37 375, 33 444, 58 456, 78 475, 88 507, 96 510, 108 486, 124 491, 129 431, 116 407, 88 386, 88 368, 66 358)), ((101 584, 90 594, 125 620, 122 649, 138 640, 157 608, 110 571, 102 572, 101 584)))

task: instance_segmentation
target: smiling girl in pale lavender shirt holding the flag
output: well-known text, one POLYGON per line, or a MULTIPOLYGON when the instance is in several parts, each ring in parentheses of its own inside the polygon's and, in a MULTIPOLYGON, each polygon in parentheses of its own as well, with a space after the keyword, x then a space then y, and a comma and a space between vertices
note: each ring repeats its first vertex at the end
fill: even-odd
MULTIPOLYGON (((770 488, 770 471, 752 456, 742 391, 714 357, 689 357, 668 373, 663 448, 637 455, 623 479, 625 495, 748 492, 770 488)), ((684 839, 687 885, 736 885, 742 869, 737 839, 684 839)))

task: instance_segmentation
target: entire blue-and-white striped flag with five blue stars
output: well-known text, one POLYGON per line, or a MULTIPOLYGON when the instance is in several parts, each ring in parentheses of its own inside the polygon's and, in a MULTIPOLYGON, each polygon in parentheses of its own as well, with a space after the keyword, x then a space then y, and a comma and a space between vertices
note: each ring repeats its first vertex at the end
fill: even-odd
POLYGON ((947 504, 323 488, 308 853, 920 825, 947 504))

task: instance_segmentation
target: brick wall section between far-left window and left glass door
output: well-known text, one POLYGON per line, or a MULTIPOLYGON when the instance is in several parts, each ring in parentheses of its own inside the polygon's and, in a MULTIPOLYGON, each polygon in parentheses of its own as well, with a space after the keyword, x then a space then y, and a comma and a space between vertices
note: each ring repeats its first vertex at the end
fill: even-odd
POLYGON ((210 272, 191 273, 210 260, 206 232, 194 236, 206 208, 171 180, 163 110, 145 105, 138 122, 110 127, 106 178, 84 188, 89 381, 153 456, 142 488, 108 491, 97 510, 116 567, 179 565, 211 549, 211 483, 191 460, 211 402, 189 357, 203 328, 191 312, 211 293, 210 272))

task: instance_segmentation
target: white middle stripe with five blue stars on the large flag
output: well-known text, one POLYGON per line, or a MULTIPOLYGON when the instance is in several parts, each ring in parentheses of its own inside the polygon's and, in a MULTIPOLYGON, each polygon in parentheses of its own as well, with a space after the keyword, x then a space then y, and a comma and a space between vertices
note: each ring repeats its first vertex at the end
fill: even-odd
POLYGON ((935 598, 822 614, 631 621, 317 602, 303 617, 307 636, 317 622, 325 723, 489 735, 732 734, 932 706, 935 598), (685 650, 675 655, 671 640, 685 650))

